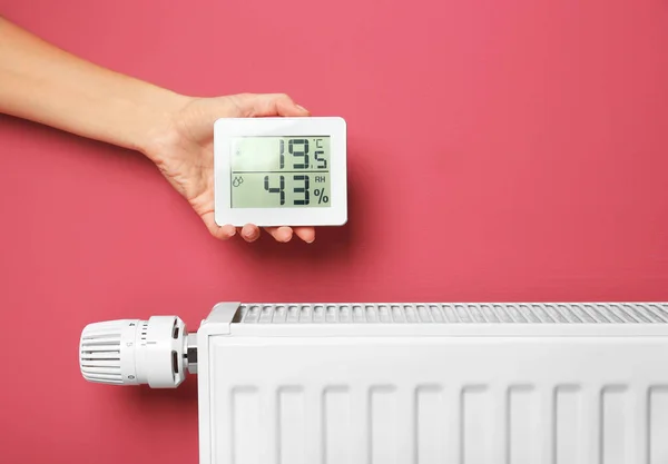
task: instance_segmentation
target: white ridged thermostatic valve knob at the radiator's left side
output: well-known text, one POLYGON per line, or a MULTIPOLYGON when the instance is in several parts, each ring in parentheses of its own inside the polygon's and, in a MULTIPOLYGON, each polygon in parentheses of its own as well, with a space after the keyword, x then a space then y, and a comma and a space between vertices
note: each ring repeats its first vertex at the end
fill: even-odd
POLYGON ((175 388, 186 378, 187 332, 177 316, 87 325, 79 367, 89 382, 175 388))

